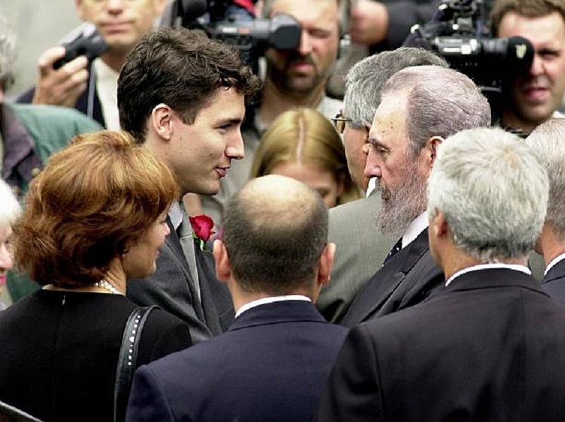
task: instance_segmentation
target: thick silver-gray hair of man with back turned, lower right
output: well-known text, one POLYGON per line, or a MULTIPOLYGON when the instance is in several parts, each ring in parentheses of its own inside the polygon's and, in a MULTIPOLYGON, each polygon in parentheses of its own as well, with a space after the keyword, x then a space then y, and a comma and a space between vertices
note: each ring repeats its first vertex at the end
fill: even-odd
POLYGON ((542 230, 547 172, 535 152, 501 128, 473 128, 439 147, 428 212, 443 212, 455 245, 480 262, 523 258, 542 230))

